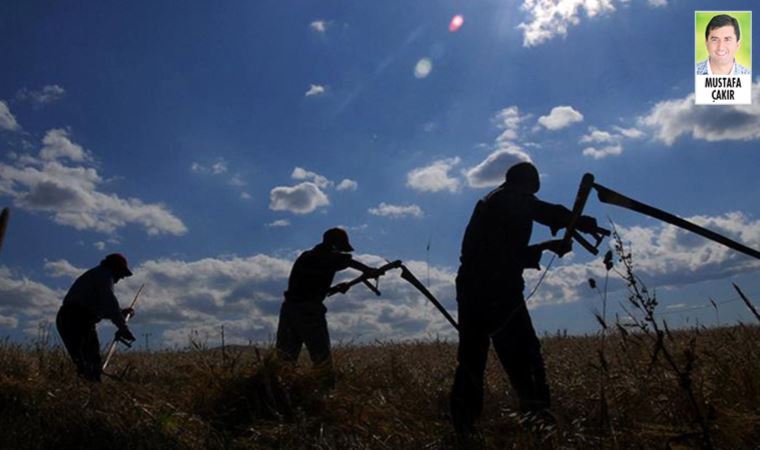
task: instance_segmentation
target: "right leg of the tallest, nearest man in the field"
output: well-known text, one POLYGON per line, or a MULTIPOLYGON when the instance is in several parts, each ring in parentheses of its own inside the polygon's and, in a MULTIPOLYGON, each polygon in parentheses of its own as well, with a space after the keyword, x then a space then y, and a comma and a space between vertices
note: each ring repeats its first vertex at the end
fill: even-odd
POLYGON ((528 309, 521 300, 509 323, 493 336, 494 349, 517 392, 520 409, 538 411, 550 406, 541 343, 528 309))

